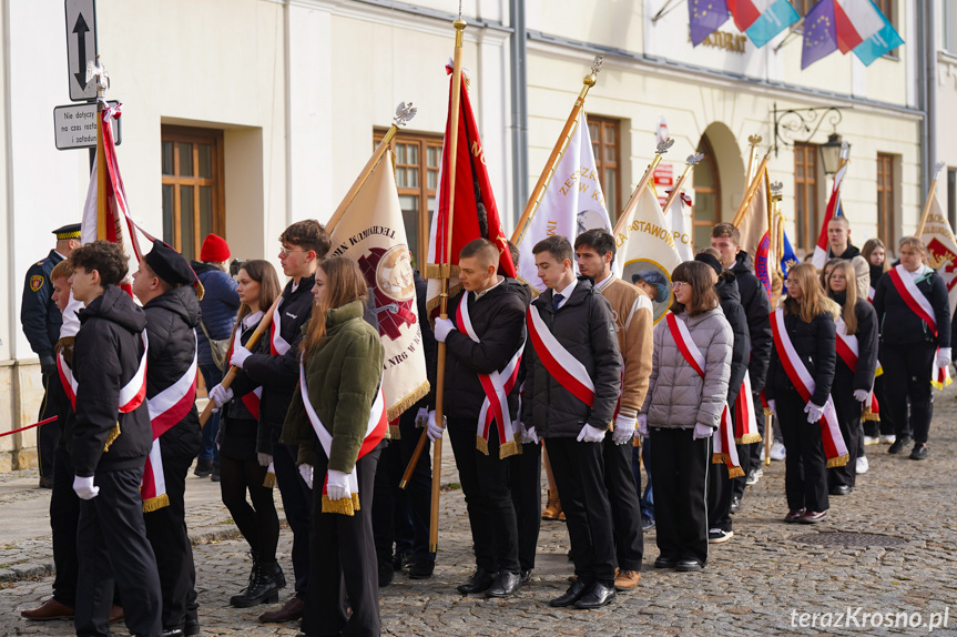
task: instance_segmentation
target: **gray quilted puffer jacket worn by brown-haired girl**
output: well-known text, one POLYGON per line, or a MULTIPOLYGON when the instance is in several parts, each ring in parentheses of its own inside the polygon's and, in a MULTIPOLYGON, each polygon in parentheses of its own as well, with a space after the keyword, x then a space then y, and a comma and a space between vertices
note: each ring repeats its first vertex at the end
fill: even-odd
POLYGON ((701 423, 717 428, 727 400, 734 334, 720 307, 679 321, 688 324, 691 338, 704 355, 704 378, 682 356, 668 321, 654 327, 651 381, 641 412, 649 427, 694 427, 701 423))

